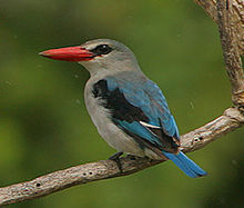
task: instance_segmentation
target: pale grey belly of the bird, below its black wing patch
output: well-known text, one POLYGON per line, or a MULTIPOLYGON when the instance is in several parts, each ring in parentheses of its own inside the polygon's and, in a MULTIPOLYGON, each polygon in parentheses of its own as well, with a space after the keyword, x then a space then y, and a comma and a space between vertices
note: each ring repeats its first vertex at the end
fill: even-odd
POLYGON ((96 98, 87 96, 85 106, 99 133, 111 147, 134 156, 145 156, 139 143, 111 121, 109 110, 96 98))

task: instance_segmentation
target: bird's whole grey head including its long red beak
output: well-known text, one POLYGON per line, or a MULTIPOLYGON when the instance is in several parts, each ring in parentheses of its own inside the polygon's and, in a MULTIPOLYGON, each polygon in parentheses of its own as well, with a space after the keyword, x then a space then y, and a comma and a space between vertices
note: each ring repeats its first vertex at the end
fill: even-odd
POLYGON ((141 72, 134 53, 126 46, 110 39, 96 39, 77 47, 50 49, 40 55, 50 59, 79 62, 91 76, 98 72, 141 72))

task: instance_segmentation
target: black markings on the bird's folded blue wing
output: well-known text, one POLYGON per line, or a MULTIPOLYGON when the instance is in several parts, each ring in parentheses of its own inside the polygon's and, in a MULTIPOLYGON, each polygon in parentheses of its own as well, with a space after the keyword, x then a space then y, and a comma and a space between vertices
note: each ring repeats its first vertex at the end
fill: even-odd
POLYGON ((141 110, 141 108, 131 105, 120 91, 119 88, 114 90, 109 90, 106 80, 102 79, 93 85, 92 93, 94 98, 101 100, 101 105, 111 110, 111 116, 113 122, 121 128, 125 133, 135 139, 140 143, 141 148, 150 148, 157 155, 162 155, 162 150, 167 152, 176 153, 179 151, 179 141, 170 136, 167 136, 162 128, 161 120, 159 119, 160 127, 150 125, 149 117, 141 110), (152 143, 145 138, 128 130, 120 126, 118 121, 126 121, 132 123, 133 121, 140 122, 144 128, 146 128, 152 135, 154 135, 159 143, 152 143), (159 151, 160 150, 160 151, 159 151))

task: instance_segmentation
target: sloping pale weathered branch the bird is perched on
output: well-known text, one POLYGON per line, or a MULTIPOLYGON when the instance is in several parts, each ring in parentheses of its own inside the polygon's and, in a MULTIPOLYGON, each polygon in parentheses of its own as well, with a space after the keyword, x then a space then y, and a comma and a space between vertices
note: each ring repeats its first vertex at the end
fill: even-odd
MULTIPOLYGON (((212 122, 182 136, 183 151, 194 151, 201 149, 220 136, 235 130, 244 123, 244 117, 236 108, 228 108, 224 115, 212 122)), ((16 204, 23 200, 43 197, 52 192, 96 180, 128 176, 163 162, 126 156, 121 159, 122 170, 120 172, 114 161, 102 160, 98 162, 84 164, 59 170, 45 176, 41 176, 31 181, 0 188, 0 206, 16 204)))

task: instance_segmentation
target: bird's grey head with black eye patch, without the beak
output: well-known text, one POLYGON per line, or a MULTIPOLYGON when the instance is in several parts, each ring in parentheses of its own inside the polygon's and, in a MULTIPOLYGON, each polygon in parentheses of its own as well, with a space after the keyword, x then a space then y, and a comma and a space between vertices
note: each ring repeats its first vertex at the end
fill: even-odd
POLYGON ((81 44, 94 53, 89 61, 79 61, 91 75, 100 71, 141 71, 134 53, 121 42, 110 39, 96 39, 81 44))

